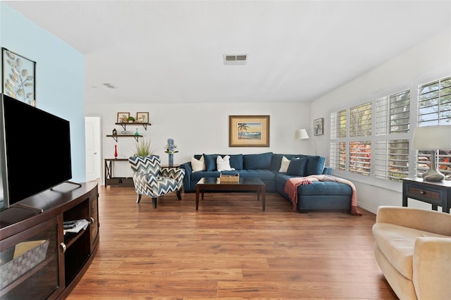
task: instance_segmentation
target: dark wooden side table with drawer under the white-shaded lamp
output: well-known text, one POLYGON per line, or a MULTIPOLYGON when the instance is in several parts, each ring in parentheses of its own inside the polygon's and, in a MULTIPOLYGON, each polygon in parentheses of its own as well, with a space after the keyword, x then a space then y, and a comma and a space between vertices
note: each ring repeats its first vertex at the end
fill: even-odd
POLYGON ((421 178, 406 178, 402 180, 402 206, 407 206, 408 198, 430 203, 434 211, 442 206, 444 213, 450 213, 451 181, 428 182, 421 178))

